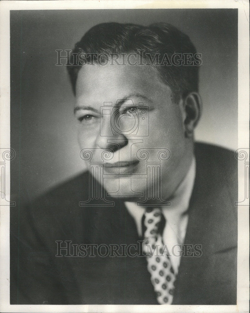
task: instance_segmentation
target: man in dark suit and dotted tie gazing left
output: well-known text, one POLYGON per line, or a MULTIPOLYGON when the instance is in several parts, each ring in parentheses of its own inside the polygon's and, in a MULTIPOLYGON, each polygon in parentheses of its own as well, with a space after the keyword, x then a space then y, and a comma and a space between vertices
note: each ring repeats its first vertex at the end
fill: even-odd
POLYGON ((89 171, 20 211, 13 304, 236 304, 237 162, 194 143, 200 60, 169 24, 76 44, 89 171))

